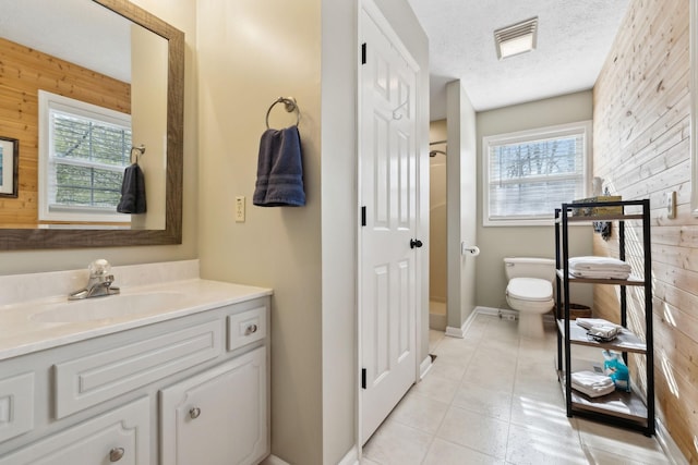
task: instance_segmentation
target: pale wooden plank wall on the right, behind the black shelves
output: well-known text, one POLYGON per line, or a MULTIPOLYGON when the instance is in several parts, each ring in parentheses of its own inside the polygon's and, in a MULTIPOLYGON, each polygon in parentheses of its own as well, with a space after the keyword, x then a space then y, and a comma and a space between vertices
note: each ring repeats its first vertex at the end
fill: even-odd
MULTIPOLYGON (((593 90, 593 173, 624 199, 650 198, 658 416, 686 458, 698 464, 698 219, 690 215, 689 69, 689 0, 630 1, 593 90), (667 219, 664 208, 671 191, 678 199, 675 219, 667 219)), ((642 232, 639 224, 629 227, 628 260, 641 272, 642 232)), ((617 257, 615 231, 609 242, 594 235, 594 254, 617 257)), ((636 291, 629 293, 629 320, 642 332, 643 296, 636 291)), ((597 315, 617 320, 617 290, 595 286, 597 315)), ((642 360, 633 360, 636 368, 642 360)), ((636 389, 645 381, 636 379, 636 389)))

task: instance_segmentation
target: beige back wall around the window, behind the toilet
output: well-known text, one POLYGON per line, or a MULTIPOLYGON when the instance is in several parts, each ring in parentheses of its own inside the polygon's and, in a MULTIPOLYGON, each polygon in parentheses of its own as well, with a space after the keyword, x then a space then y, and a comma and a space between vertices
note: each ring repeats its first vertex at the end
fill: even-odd
MULTIPOLYGON (((591 91, 539 100, 478 113, 478 305, 507 308, 504 257, 555 256, 553 222, 549 227, 482 227, 482 138, 495 134, 591 120, 591 91)), ((570 231, 570 255, 592 255, 590 227, 570 231)), ((592 304, 591 286, 575 289, 575 302, 592 304)))

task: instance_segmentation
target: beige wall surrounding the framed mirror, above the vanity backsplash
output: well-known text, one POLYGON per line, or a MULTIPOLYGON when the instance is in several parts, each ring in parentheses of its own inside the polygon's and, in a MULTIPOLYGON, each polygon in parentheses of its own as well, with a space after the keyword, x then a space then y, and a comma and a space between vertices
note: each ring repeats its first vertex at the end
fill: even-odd
POLYGON ((132 0, 185 34, 183 230, 181 245, 0 252, 0 274, 86 268, 95 258, 133 265, 196 258, 196 8, 194 0, 132 0))

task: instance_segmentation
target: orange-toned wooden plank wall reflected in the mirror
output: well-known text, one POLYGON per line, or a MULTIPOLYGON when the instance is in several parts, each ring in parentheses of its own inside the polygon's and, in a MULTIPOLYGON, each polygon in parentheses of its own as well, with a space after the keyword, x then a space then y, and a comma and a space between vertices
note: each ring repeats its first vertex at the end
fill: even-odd
POLYGON ((131 86, 0 38, 0 135, 20 140, 17 198, 0 197, 0 228, 38 218, 38 90, 131 112, 131 86))

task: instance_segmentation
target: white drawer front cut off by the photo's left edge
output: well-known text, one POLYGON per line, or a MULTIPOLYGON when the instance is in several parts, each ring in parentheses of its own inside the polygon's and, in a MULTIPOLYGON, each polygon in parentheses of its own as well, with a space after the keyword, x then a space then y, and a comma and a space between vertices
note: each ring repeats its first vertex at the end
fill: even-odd
POLYGON ((34 428, 34 374, 0 380, 0 442, 34 428))

